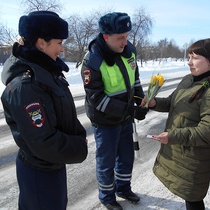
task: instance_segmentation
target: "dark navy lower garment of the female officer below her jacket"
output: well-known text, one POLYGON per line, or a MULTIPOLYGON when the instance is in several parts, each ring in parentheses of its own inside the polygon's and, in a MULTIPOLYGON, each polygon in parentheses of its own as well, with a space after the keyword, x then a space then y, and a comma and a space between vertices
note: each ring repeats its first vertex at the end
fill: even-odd
POLYGON ((66 210, 66 168, 43 172, 16 158, 19 210, 66 210))

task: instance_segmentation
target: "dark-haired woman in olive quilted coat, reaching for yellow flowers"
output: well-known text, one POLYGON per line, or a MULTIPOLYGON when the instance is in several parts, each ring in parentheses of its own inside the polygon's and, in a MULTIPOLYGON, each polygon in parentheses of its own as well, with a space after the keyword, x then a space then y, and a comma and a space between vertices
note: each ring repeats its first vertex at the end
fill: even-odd
POLYGON ((149 107, 169 112, 153 171, 187 210, 204 210, 210 180, 210 39, 188 48, 191 74, 167 98, 156 97, 149 107))

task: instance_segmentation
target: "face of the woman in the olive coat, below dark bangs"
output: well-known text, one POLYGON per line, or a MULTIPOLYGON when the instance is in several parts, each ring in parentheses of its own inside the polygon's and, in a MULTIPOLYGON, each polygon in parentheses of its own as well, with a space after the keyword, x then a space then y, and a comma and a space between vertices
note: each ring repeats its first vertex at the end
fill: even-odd
POLYGON ((199 76, 210 70, 210 61, 195 53, 189 54, 188 65, 193 76, 199 76))

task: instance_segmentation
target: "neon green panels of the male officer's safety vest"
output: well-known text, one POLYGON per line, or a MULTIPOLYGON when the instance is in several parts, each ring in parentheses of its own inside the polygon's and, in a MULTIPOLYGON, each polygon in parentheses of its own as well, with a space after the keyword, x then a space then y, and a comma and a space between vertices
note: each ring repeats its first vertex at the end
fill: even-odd
MULTIPOLYGON (((128 72, 132 88, 135 83, 135 69, 136 69, 135 54, 132 53, 131 58, 125 58, 121 56, 121 59, 128 72)), ((103 61, 100 66, 100 71, 104 83, 104 92, 107 95, 113 96, 127 92, 123 75, 116 64, 114 64, 113 66, 108 66, 106 62, 103 61)))

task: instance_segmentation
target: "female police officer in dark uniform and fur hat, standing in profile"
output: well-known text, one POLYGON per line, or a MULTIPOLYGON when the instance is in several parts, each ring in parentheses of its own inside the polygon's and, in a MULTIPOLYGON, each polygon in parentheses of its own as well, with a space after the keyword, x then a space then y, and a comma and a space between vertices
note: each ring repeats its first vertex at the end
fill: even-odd
POLYGON ((58 57, 68 24, 54 12, 31 12, 20 18, 19 34, 3 68, 1 97, 19 147, 19 209, 65 210, 65 164, 87 157, 86 131, 62 73, 69 69, 58 57))

